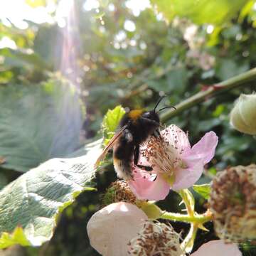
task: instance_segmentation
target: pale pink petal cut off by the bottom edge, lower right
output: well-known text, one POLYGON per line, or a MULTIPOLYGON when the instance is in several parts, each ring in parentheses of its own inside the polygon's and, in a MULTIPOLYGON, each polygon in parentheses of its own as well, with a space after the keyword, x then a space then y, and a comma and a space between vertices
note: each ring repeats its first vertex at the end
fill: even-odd
POLYGON ((238 245, 225 244, 223 240, 212 240, 201 245, 191 256, 242 256, 238 245))

